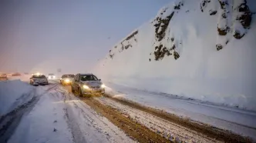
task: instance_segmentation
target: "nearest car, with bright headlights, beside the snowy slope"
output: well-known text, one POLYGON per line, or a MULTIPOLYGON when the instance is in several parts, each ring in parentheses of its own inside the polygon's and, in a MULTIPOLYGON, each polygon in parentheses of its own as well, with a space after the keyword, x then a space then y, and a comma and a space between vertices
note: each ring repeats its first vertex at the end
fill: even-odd
POLYGON ((71 84, 72 92, 79 96, 105 93, 105 85, 93 74, 77 74, 71 84))

